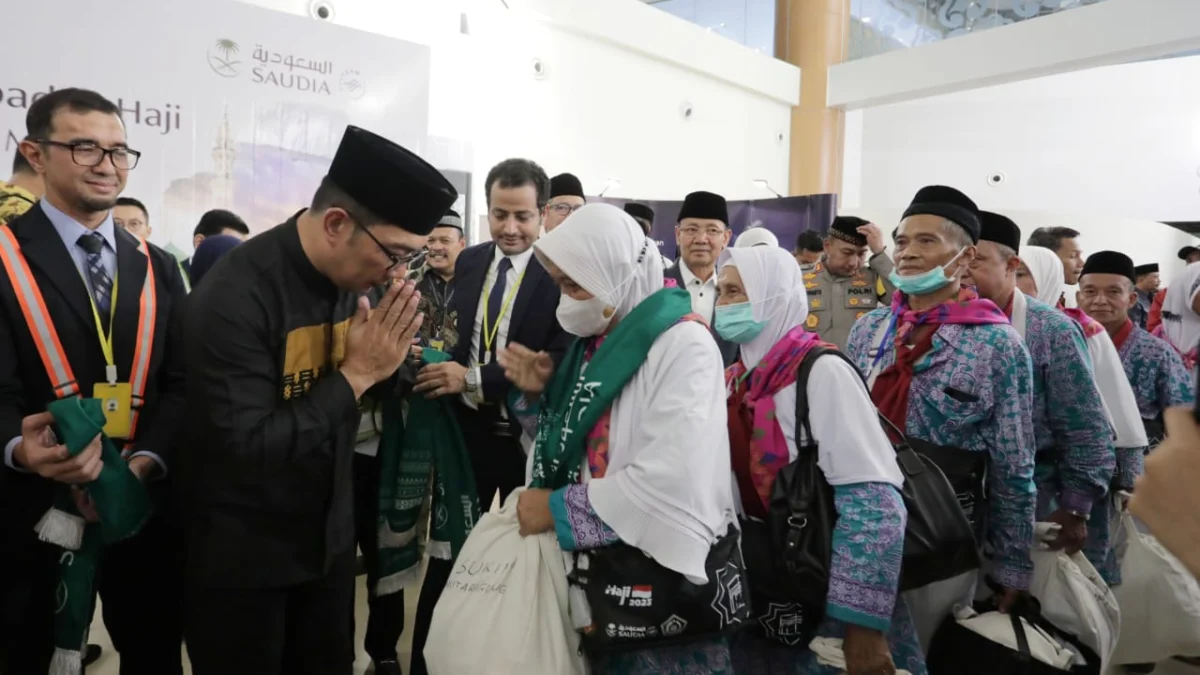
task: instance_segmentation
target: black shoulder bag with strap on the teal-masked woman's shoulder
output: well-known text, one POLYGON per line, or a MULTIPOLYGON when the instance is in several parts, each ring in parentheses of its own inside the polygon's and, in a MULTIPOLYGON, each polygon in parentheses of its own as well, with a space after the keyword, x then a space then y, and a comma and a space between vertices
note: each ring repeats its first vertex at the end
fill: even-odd
POLYGON ((821 347, 805 354, 796 374, 796 461, 775 474, 767 520, 742 520, 743 552, 758 629, 785 645, 806 645, 824 619, 838 510, 833 488, 817 466, 817 444, 809 428, 808 381, 821 347))

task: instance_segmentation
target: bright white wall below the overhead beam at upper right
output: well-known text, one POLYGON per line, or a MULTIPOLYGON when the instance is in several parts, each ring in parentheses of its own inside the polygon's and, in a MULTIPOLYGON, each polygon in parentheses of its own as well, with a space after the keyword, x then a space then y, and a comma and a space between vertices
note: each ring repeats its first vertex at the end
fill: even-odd
POLYGON ((1152 221, 1200 220, 1196 82, 1189 56, 869 108, 860 147, 847 145, 846 205, 902 209, 923 185, 953 185, 985 209, 1037 214, 1026 233, 1068 225, 1086 250, 1174 265, 1195 240, 1152 221))

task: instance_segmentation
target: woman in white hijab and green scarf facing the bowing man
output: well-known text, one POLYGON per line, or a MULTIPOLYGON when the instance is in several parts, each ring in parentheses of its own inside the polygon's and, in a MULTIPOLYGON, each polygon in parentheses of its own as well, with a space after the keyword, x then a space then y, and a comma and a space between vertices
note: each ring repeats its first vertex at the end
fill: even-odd
MULTIPOLYGON (((578 340, 553 377, 545 354, 510 345, 500 357, 518 389, 545 389, 522 533, 554 531, 566 551, 624 543, 707 583, 736 518, 716 342, 690 295, 664 288, 654 243, 620 209, 583 207, 535 247, 578 340)), ((724 674, 728 658, 715 639, 606 655, 592 673, 724 674)))

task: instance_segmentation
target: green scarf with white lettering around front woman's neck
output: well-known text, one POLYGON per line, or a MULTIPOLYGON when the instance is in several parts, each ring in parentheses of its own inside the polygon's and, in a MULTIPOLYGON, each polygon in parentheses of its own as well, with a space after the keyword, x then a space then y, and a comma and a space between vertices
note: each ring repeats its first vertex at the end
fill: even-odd
POLYGON ((642 300, 605 338, 590 359, 575 340, 541 401, 530 488, 557 490, 578 482, 587 437, 646 362, 664 331, 691 313, 691 295, 664 288, 642 300))

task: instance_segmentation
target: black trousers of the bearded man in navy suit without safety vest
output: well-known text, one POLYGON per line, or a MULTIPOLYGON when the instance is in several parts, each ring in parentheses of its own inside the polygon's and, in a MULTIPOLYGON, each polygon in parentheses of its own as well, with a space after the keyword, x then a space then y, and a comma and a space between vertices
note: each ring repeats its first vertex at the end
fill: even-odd
MULTIPOLYGON (((526 456, 521 440, 512 436, 498 436, 493 432, 492 420, 486 413, 458 406, 458 426, 463 441, 470 453, 470 465, 475 473, 475 489, 479 494, 479 508, 486 512, 492 507, 492 500, 499 491, 500 498, 512 490, 524 485, 526 456)), ((450 571, 454 566, 448 560, 428 558, 425 568, 425 583, 421 585, 421 597, 416 603, 416 621, 413 626, 413 663, 410 675, 427 675, 425 668, 425 641, 430 637, 430 622, 433 620, 433 608, 442 597, 450 571)))

